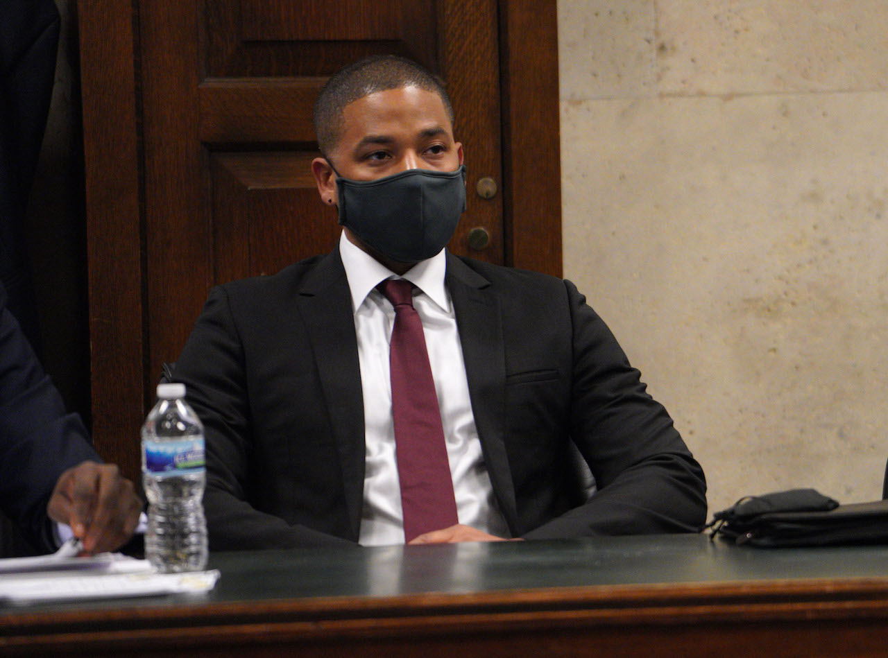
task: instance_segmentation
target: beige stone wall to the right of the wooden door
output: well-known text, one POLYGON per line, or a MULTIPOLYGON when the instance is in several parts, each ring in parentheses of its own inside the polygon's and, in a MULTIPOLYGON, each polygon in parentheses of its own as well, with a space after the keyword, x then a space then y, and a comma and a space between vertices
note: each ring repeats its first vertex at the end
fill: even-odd
POLYGON ((565 276, 710 512, 888 458, 888 3, 559 0, 565 276))

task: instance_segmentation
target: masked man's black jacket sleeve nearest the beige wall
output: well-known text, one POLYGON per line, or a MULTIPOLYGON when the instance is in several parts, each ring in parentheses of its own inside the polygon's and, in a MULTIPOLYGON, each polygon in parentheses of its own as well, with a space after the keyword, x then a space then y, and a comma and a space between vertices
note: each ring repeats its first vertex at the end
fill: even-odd
POLYGON ((597 492, 527 538, 699 532, 706 483, 604 321, 564 281, 573 332, 569 432, 597 492))

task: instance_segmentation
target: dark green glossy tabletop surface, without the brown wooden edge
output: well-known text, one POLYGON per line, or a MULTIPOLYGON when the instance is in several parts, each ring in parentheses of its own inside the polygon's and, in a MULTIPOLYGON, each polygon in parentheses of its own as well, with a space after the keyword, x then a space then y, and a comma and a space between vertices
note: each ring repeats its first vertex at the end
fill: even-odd
MULTIPOLYGON (((199 596, 0 606, 0 619, 41 610, 214 606, 260 601, 473 595, 595 586, 873 581, 888 591, 888 546, 760 549, 707 535, 598 537, 353 549, 214 553, 221 576, 199 596), (882 583, 884 581, 884 583, 882 583)), ((440 598, 440 597, 439 597, 440 598)))

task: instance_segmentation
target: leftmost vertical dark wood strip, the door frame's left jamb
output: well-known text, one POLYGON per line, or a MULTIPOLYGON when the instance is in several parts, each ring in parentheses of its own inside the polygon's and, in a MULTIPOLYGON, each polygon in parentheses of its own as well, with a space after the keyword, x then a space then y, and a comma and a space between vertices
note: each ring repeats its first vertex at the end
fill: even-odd
POLYGON ((92 435, 131 478, 144 417, 142 157, 132 8, 78 5, 91 344, 92 435))

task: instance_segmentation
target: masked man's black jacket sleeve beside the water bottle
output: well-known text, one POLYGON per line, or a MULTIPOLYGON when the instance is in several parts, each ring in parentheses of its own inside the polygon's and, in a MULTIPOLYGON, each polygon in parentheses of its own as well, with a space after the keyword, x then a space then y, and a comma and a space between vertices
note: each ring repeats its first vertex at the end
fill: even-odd
MULTIPOLYGON (((250 319, 246 319, 249 321, 250 319)), ((256 459, 246 359, 224 287, 210 291, 201 317, 176 363, 175 378, 204 424, 207 450, 207 515, 210 551, 348 544, 345 539, 250 503, 250 464, 256 459)))

